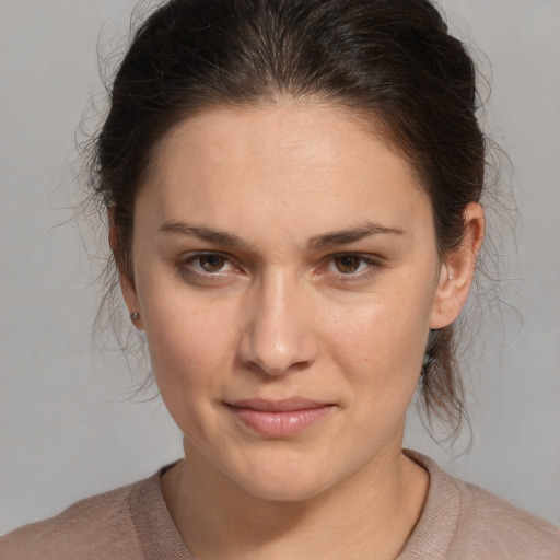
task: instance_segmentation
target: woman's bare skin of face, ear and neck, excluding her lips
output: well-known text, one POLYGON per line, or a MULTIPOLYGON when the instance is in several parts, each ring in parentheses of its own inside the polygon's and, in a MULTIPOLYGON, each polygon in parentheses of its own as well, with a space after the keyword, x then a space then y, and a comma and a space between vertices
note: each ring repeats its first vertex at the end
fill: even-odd
POLYGON ((480 207, 465 220, 442 262, 409 164, 339 107, 217 108, 164 138, 121 287, 185 434, 162 487, 198 558, 397 556, 429 485, 401 453, 407 407, 482 241, 480 207), (328 413, 266 436, 230 406, 292 397, 328 413))

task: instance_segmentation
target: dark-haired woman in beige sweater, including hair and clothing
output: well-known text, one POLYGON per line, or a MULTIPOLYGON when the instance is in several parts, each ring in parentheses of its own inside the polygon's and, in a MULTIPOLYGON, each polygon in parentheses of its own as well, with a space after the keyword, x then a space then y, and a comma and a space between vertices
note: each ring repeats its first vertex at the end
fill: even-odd
POLYGON ((95 189, 185 458, 2 558, 559 558, 402 452, 463 413, 482 245, 471 60, 424 0, 171 1, 117 72, 95 189))

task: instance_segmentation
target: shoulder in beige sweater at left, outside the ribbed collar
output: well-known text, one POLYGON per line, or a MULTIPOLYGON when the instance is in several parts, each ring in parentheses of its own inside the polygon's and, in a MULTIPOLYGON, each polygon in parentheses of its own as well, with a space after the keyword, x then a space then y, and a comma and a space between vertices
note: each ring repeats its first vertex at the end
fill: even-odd
POLYGON ((0 559, 143 558, 131 499, 154 478, 81 500, 55 517, 0 537, 0 559))

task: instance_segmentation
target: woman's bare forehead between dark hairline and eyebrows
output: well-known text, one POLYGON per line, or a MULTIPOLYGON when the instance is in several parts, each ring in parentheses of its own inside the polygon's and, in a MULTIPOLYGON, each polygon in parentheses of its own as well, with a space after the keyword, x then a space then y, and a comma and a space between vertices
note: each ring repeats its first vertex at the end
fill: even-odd
POLYGON ((139 198, 160 220, 222 229, 265 226, 279 212, 313 214, 326 230, 349 218, 398 226, 390 222, 431 212, 408 162, 371 125, 318 103, 218 108, 184 120, 158 147, 139 198))

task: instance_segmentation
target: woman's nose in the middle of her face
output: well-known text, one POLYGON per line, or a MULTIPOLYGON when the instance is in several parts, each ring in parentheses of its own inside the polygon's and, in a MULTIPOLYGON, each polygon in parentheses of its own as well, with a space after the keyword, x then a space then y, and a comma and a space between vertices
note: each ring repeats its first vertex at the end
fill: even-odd
POLYGON ((267 375, 282 375, 310 366, 317 355, 313 304, 287 275, 264 278, 247 294, 238 355, 267 375))

